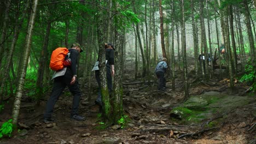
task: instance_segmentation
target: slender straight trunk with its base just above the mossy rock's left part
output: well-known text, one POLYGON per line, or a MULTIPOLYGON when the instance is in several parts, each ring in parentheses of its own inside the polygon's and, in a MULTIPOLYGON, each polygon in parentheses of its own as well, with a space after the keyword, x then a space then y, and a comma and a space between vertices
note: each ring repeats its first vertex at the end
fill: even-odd
POLYGON ((185 30, 185 16, 184 16, 184 0, 182 0, 182 35, 183 35, 183 70, 184 70, 184 91, 185 97, 184 100, 187 100, 189 97, 189 85, 188 85, 188 71, 187 71, 187 52, 186 52, 186 30, 185 30))

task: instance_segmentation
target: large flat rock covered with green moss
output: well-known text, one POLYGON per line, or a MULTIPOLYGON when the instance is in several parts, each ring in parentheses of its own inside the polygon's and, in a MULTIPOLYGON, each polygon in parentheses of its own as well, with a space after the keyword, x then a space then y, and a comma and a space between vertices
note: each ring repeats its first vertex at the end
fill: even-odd
MULTIPOLYGON (((207 92, 205 94, 191 96, 185 103, 172 109, 170 118, 172 121, 182 124, 202 123, 216 117, 220 113, 246 105, 250 100, 249 97, 207 92)), ((214 122, 206 126, 213 127, 216 123, 214 122)))

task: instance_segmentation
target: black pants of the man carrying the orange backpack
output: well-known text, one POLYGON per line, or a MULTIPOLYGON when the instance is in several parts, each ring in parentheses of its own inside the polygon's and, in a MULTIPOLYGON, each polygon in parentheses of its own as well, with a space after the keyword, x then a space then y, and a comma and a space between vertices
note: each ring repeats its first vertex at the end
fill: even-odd
POLYGON ((69 91, 74 95, 71 116, 78 114, 78 107, 79 107, 81 92, 80 92, 77 80, 73 85, 70 85, 71 79, 72 79, 71 71, 68 69, 65 75, 56 77, 54 79, 53 91, 48 100, 48 103, 46 104, 44 118, 51 117, 51 114, 53 113, 53 110, 54 110, 54 105, 56 104, 57 100, 59 99, 61 93, 63 92, 66 86, 68 86, 69 91))

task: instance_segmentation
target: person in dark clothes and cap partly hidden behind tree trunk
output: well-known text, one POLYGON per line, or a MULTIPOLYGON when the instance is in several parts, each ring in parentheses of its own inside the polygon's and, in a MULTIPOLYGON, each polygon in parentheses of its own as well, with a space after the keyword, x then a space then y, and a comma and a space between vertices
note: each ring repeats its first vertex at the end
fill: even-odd
MULTIPOLYGON (((114 46, 110 43, 105 44, 105 55, 106 55, 106 68, 107 68, 107 85, 108 93, 112 93, 112 76, 115 74, 114 70, 114 46)), ((94 70, 94 69, 92 69, 94 70)), ((100 80, 100 70, 95 70, 95 77, 98 83, 98 97, 95 100, 95 104, 102 106, 101 99, 101 80, 100 80)), ((102 107, 101 107, 102 108, 102 107)))

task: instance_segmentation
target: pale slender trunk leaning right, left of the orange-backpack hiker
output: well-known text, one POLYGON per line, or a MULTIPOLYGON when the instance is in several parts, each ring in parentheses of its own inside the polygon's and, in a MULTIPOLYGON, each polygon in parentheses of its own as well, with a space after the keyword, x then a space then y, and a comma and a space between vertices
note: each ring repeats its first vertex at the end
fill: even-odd
POLYGON ((13 113, 12 113, 14 124, 17 124, 19 112, 20 112, 21 97, 22 97, 24 81, 25 81, 25 77, 26 77, 28 57, 30 56, 31 38, 32 38, 32 31, 33 31, 33 27, 34 27, 34 20, 36 18, 37 4, 38 4, 38 0, 34 0, 33 5, 32 5, 32 10, 31 10, 31 15, 30 15, 30 21, 28 23, 24 59, 22 62, 22 69, 20 71, 19 85, 18 85, 18 89, 16 92, 16 97, 15 97, 14 106, 13 106, 13 113))

